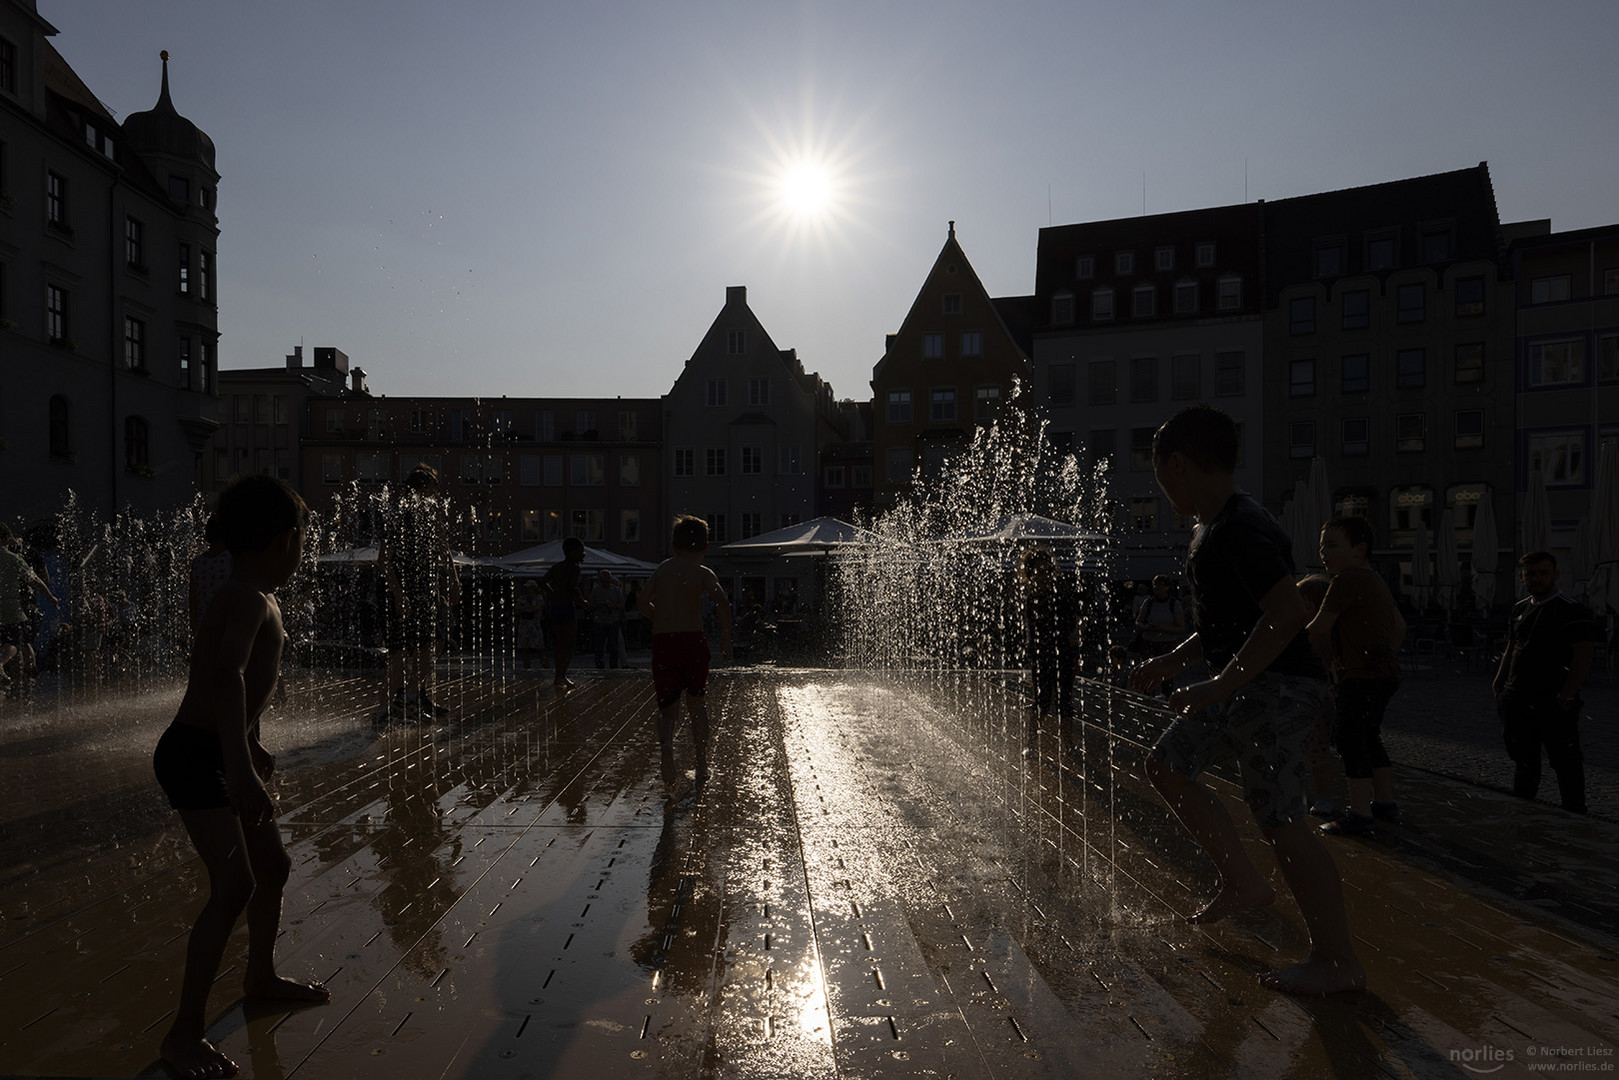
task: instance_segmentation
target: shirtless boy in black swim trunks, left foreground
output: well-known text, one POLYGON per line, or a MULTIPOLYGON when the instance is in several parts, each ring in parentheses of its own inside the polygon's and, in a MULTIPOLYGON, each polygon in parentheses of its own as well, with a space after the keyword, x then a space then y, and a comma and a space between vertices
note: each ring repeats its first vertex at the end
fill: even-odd
POLYGON ((274 591, 303 557, 309 510, 272 476, 244 476, 219 499, 232 576, 202 612, 191 672, 152 767, 207 868, 209 897, 191 928, 164 1067, 176 1077, 233 1077, 236 1064, 204 1038, 207 993, 230 933, 248 913, 249 997, 325 1002, 321 983, 275 973, 282 889, 291 868, 264 782, 275 758, 259 742, 259 716, 282 661, 282 612, 274 591))

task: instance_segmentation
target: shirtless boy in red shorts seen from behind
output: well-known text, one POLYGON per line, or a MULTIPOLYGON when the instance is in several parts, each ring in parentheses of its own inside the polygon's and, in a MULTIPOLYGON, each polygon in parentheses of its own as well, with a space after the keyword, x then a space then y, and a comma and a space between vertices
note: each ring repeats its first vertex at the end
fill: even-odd
POLYGON ((719 654, 730 661, 730 601, 714 572, 703 565, 708 554, 708 521, 690 515, 675 518, 675 554, 665 559, 646 588, 638 607, 652 620, 652 691, 657 695, 657 742, 662 751, 664 787, 675 785, 675 724, 680 695, 686 695, 691 743, 696 750, 698 787, 708 784, 708 691, 709 648, 703 633, 703 597, 714 601, 719 614, 719 654))

